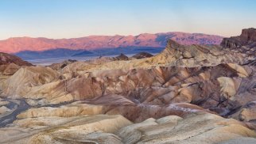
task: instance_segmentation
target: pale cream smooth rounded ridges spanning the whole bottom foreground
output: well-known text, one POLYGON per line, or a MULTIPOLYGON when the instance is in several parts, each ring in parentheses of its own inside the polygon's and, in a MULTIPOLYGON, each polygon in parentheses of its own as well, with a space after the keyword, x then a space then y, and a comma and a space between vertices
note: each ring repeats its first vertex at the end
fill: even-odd
POLYGON ((0 129, 0 142, 11 143, 216 143, 256 133, 235 119, 209 113, 166 116, 132 123, 122 116, 39 117, 19 119, 0 129))

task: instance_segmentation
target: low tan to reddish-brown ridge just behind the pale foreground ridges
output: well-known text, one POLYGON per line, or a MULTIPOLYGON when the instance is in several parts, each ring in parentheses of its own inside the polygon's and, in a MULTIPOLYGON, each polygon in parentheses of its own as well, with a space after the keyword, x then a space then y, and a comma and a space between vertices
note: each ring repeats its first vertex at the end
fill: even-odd
POLYGON ((133 122, 142 122, 145 119, 159 119, 163 116, 188 116, 195 112, 209 112, 199 106, 178 103, 168 105, 149 105, 134 104, 121 96, 100 97, 97 100, 74 102, 63 105, 60 108, 41 107, 30 108, 26 112, 21 112, 17 119, 35 118, 35 117, 72 117, 72 116, 94 116, 99 114, 122 115, 133 122))

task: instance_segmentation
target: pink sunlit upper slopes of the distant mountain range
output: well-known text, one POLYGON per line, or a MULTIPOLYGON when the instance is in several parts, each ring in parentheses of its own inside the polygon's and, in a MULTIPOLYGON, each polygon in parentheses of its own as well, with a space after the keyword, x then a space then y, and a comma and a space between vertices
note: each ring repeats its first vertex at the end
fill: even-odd
POLYGON ((220 44, 223 37, 185 32, 143 33, 138 36, 86 36, 72 39, 13 37, 0 40, 0 51, 17 53, 20 51, 47 51, 56 48, 91 51, 116 47, 165 47, 169 39, 184 45, 220 44))

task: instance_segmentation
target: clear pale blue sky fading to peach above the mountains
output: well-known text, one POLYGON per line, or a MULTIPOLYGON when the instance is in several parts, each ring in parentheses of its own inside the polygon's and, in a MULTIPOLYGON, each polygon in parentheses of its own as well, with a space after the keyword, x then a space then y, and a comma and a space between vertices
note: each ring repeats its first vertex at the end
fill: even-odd
POLYGON ((0 0, 0 40, 256 28, 255 0, 0 0))

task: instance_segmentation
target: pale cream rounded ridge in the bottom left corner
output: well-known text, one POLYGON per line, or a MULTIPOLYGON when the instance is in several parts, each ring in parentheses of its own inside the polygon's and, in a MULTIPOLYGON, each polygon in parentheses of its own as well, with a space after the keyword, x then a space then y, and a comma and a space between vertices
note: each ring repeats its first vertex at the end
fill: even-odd
POLYGON ((41 117, 17 120, 0 130, 1 142, 12 143, 120 143, 115 131, 130 125, 123 116, 41 117))

